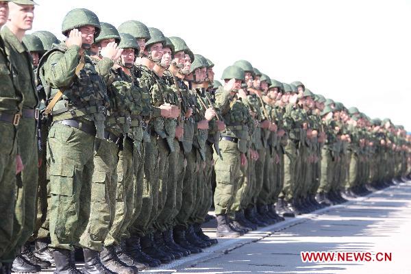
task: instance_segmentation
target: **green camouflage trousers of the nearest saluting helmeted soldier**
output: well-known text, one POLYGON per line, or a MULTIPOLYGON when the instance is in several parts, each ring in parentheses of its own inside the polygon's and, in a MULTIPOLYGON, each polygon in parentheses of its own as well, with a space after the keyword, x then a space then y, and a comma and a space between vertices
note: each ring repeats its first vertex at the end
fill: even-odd
POLYGON ((50 237, 51 248, 74 250, 82 246, 90 216, 90 197, 95 136, 79 129, 53 124, 47 139, 50 164, 50 237))

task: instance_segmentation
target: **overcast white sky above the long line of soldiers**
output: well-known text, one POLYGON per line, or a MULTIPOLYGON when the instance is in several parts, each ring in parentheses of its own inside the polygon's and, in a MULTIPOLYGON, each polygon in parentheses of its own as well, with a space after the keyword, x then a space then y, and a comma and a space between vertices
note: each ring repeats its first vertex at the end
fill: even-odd
POLYGON ((116 27, 134 19, 180 36, 223 69, 245 59, 281 82, 411 131, 411 1, 36 0, 34 29, 61 39, 62 18, 88 8, 116 27), (155 12, 150 12, 154 9, 155 12))

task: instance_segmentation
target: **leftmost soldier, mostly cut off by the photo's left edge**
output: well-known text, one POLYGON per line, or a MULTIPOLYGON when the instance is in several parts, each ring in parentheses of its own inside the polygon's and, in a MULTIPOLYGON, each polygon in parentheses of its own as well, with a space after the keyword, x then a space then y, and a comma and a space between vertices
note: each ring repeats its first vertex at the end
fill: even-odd
MULTIPOLYGON (((8 1, 0 1, 0 27, 8 20, 8 1)), ((23 166, 21 156, 16 154, 16 128, 20 118, 23 95, 22 90, 14 88, 12 64, 8 49, 5 49, 5 33, 0 32, 0 272, 11 272, 13 258, 3 258, 10 239, 13 236, 13 212, 15 204, 16 174, 21 173, 23 166)))

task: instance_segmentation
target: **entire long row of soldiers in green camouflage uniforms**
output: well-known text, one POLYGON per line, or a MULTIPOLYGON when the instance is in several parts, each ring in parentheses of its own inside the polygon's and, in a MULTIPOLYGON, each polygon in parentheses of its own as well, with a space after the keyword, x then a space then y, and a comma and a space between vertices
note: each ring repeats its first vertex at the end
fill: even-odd
POLYGON ((410 175, 410 136, 389 119, 246 60, 221 84, 182 38, 139 21, 116 28, 75 9, 64 42, 25 34, 21 14, 32 22, 34 2, 7 2, 3 273, 51 263, 79 273, 75 249, 82 273, 137 273, 215 245, 201 229, 212 203, 216 235, 238 237, 410 175))

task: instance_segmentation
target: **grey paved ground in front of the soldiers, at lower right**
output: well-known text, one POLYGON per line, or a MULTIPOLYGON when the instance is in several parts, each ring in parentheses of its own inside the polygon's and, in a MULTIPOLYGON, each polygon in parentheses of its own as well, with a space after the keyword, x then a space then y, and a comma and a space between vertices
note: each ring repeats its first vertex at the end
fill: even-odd
MULTIPOLYGON (((288 219, 151 273, 411 273, 411 182, 288 219), (302 262, 301 251, 391 253, 391 262, 302 262)), ((213 234, 212 229, 208 232, 213 234)), ((372 258, 375 258, 374 256, 372 258)))

